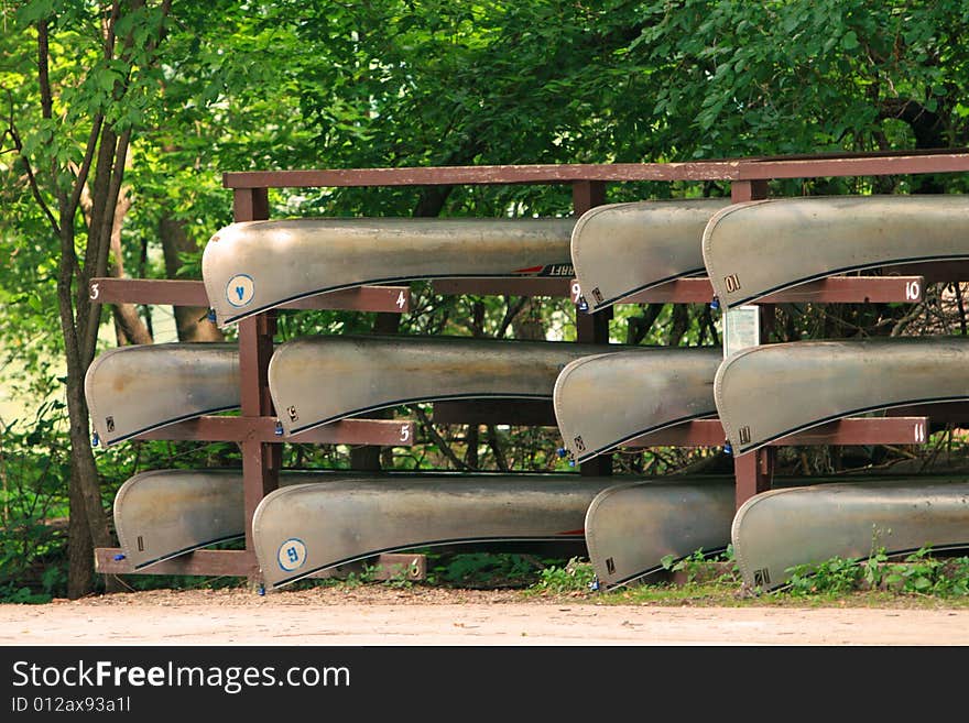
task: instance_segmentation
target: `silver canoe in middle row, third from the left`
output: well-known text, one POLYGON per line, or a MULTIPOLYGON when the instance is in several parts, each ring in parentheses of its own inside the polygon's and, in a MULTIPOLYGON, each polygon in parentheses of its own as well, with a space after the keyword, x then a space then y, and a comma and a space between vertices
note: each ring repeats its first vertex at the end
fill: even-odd
POLYGON ((717 414, 719 347, 642 347, 566 364, 553 392, 565 448, 577 461, 641 435, 717 414))

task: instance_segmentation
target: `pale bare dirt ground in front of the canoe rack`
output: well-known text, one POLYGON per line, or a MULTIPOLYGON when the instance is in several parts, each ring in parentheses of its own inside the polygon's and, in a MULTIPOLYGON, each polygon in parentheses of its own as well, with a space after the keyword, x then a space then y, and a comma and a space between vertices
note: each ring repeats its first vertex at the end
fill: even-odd
POLYGON ((0 605, 0 645, 965 646, 969 609, 605 605, 386 585, 0 605))

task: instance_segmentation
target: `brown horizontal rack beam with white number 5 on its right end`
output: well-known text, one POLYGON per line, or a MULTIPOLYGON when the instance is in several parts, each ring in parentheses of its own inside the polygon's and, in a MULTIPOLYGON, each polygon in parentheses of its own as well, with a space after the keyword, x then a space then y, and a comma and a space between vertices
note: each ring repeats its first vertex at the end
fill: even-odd
POLYGON ((171 439, 178 441, 292 442, 294 445, 380 445, 411 447, 414 443, 414 421, 393 419, 344 419, 308 429, 292 437, 279 434, 279 419, 265 417, 204 416, 186 419, 160 429, 146 431, 133 439, 171 439))

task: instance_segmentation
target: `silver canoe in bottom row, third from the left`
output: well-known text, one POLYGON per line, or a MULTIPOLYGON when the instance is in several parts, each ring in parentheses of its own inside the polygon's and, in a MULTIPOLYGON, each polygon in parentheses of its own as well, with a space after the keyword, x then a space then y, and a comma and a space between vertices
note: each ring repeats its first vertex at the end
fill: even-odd
POLYGON ((730 544, 736 512, 729 475, 662 476, 600 492, 586 513, 586 545, 600 588, 645 582, 664 558, 714 555, 730 544))

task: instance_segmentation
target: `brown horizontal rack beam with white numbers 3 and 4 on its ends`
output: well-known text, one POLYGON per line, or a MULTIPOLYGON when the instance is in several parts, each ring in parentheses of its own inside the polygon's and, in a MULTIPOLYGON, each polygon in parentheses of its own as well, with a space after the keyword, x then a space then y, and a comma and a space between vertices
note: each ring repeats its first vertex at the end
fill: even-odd
MULTIPOLYGON (((553 281, 553 280, 548 280, 553 281)), ((90 281, 91 299, 101 304, 171 304, 208 306, 205 284, 200 281, 167 278, 98 277, 90 281)), ((346 309, 351 311, 411 310, 410 286, 359 286, 317 294, 281 305, 282 309, 346 309)))

